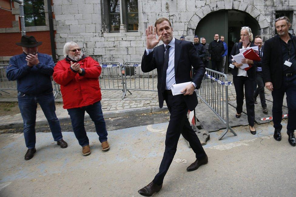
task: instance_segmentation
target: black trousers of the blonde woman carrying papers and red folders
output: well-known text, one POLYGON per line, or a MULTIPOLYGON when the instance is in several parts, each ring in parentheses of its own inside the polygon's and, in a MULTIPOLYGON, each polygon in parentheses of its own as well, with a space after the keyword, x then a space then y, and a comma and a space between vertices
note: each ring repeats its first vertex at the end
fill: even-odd
POLYGON ((248 115, 248 122, 250 126, 254 126, 255 122, 255 105, 254 105, 254 86, 255 81, 251 81, 245 76, 233 77, 234 88, 236 92, 236 112, 240 114, 243 112, 244 104, 244 89, 246 95, 246 108, 248 115))

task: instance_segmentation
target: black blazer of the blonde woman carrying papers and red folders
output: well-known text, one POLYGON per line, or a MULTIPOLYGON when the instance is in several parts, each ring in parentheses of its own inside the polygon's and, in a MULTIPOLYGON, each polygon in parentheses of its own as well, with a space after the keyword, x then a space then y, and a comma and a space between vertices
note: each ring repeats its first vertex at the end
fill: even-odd
MULTIPOLYGON (((251 43, 250 46, 256 46, 254 45, 254 43, 251 43)), ((243 43, 242 42, 239 42, 237 44, 235 44, 231 50, 231 53, 229 55, 229 59, 228 59, 228 62, 229 64, 232 64, 233 61, 232 61, 232 56, 231 55, 237 55, 240 53, 240 48, 243 48, 243 43)), ((264 55, 264 52, 263 52, 263 55, 264 55)), ((249 77, 249 79, 251 81, 254 81, 256 80, 256 67, 260 67, 261 66, 261 62, 257 62, 257 61, 253 61, 254 64, 253 66, 247 70, 247 75, 249 77)), ((231 69, 231 74, 233 76, 237 76, 237 72, 238 72, 238 68, 237 67, 234 67, 233 69, 231 69)))

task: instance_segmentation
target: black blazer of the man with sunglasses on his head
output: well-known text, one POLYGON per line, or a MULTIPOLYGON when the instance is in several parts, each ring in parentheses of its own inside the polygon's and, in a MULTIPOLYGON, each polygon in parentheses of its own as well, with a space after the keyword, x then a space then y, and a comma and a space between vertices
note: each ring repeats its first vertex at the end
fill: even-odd
MULTIPOLYGON (((291 34, 289 35, 291 36, 291 34)), ((274 89, 281 88, 283 78, 283 56, 280 39, 278 35, 275 35, 265 41, 261 65, 264 82, 271 82, 274 89)), ((295 36, 292 36, 292 41, 296 48, 295 36)))

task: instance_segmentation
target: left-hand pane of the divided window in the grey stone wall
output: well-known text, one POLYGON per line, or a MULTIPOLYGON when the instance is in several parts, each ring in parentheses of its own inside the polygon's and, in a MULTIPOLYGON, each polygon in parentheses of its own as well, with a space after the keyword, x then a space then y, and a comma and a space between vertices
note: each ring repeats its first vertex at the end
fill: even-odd
POLYGON ((120 5, 119 0, 109 0, 110 32, 119 32, 120 5))

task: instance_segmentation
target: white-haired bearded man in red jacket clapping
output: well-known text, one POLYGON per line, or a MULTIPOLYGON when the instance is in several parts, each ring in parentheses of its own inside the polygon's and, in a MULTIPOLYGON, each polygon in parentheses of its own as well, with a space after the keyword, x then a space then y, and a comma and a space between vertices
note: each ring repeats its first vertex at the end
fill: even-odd
POLYGON ((82 146, 82 155, 86 156, 91 152, 84 128, 85 112, 95 123, 102 150, 109 150, 98 79, 102 68, 93 58, 81 55, 81 48, 76 42, 65 44, 64 56, 66 58, 59 61, 54 68, 53 79, 61 85, 63 108, 70 115, 74 134, 82 146))

